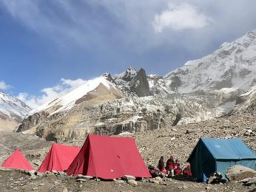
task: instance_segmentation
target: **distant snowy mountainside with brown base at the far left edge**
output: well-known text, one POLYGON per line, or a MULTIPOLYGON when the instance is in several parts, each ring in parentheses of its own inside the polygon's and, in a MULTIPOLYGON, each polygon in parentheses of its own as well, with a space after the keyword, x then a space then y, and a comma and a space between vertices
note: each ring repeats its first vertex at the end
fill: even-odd
POLYGON ((15 128, 30 110, 18 98, 0 92, 0 131, 15 128))

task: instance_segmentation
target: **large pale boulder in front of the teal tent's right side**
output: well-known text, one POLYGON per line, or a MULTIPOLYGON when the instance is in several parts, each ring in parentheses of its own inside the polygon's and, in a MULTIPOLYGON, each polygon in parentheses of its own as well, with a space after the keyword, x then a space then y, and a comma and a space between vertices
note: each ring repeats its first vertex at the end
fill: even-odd
POLYGON ((228 169, 228 171, 226 171, 226 177, 229 179, 229 181, 245 179, 246 177, 251 177, 254 175, 256 175, 255 170, 251 168, 246 168, 242 165, 232 166, 228 169))

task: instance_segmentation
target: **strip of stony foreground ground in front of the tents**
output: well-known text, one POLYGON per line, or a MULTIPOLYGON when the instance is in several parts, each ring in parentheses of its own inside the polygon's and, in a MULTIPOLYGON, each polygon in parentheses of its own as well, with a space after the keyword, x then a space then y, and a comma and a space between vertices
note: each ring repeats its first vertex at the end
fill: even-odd
POLYGON ((207 185, 196 182, 183 182, 168 179, 164 185, 151 182, 137 182, 133 187, 127 182, 95 181, 75 182, 75 178, 67 176, 41 176, 31 179, 20 171, 0 171, 0 191, 253 191, 252 187, 244 187, 240 183, 224 185, 207 185))

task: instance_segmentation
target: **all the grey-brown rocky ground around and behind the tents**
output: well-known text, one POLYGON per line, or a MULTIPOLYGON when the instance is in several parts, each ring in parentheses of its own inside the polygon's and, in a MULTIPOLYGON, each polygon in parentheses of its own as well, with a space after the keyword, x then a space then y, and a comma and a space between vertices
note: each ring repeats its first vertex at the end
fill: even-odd
MULTIPOLYGON (((228 117, 208 120, 181 126, 170 126, 153 131, 123 134, 134 137, 147 165, 156 165, 161 155, 165 160, 173 154, 181 164, 186 165, 192 149, 200 137, 240 137, 256 151, 255 115, 235 114, 228 117)), ((52 142, 14 132, 0 132, 0 162, 6 159, 15 148, 20 148, 31 164, 37 168, 44 159, 52 142)), ((68 145, 82 145, 84 140, 65 142, 68 145)), ((229 182, 223 185, 207 185, 178 179, 166 179, 164 185, 151 182, 138 182, 133 187, 127 182, 90 180, 75 182, 67 176, 40 176, 31 179, 21 171, 0 171, 0 191, 255 191, 255 187, 229 182)))

